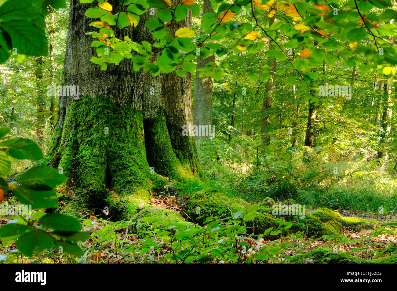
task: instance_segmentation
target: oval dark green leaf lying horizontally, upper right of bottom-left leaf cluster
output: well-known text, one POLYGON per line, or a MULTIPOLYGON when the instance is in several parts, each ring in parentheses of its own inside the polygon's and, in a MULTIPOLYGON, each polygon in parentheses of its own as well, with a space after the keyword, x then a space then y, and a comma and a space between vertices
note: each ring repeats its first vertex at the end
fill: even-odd
POLYGON ((60 213, 47 213, 40 218, 39 224, 56 231, 79 231, 82 229, 79 220, 60 213))

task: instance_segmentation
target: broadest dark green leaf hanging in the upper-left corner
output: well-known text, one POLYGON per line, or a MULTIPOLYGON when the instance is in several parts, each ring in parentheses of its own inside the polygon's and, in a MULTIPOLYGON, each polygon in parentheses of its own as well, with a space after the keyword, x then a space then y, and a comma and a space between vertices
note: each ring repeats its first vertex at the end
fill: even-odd
POLYGON ((12 47, 17 48, 18 54, 47 56, 46 34, 44 29, 35 26, 33 21, 5 21, 0 23, 0 28, 10 35, 12 47))

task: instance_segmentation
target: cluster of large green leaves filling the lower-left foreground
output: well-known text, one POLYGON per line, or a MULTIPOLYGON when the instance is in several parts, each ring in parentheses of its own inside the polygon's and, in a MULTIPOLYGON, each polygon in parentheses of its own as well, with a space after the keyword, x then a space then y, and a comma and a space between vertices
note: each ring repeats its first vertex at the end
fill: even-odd
MULTIPOLYGON (((4 137, 9 130, 2 127, 0 133, 4 137)), ((21 137, 0 142, 0 153, 2 157, 12 156, 18 159, 43 158, 36 143, 21 137)), ((2 165, 1 176, 4 177, 9 167, 4 167, 4 163, 2 165)), ((15 185, 9 185, 0 177, 0 202, 7 199, 5 192, 12 190, 15 198, 32 210, 56 207, 57 195, 53 189, 64 183, 66 179, 64 175, 48 166, 33 166, 25 170, 15 185)), ((2 210, 7 209, 2 206, 2 210)), ((8 212, 7 215, 13 220, 0 227, 2 247, 16 240, 17 251, 28 257, 39 256, 44 251, 50 252, 54 246, 60 253, 65 251, 71 255, 81 256, 79 247, 71 242, 84 241, 87 235, 81 232, 81 224, 76 218, 58 213, 44 214, 41 211, 8 212)))

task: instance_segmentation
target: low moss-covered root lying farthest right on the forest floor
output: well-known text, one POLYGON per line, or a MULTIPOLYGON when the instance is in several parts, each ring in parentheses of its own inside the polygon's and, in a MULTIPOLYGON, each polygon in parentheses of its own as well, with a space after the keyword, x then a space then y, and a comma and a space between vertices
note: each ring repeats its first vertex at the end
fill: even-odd
POLYGON ((357 232, 374 229, 377 224, 375 220, 366 220, 363 218, 356 218, 356 217, 343 217, 339 213, 334 212, 328 208, 316 209, 310 215, 318 218, 322 222, 336 221, 339 224, 348 227, 350 229, 353 229, 354 231, 357 232))

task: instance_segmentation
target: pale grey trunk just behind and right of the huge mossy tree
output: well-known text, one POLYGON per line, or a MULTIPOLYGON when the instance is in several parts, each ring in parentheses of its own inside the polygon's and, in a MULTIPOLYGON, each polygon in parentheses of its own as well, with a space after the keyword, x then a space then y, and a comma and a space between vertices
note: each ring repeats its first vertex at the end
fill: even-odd
MULTIPOLYGON (((204 0, 202 14, 213 13, 210 0, 204 0)), ((202 35, 202 29, 200 35, 202 35)), ((196 69, 196 80, 195 90, 193 95, 193 124, 195 125, 208 125, 212 127, 212 87, 214 85, 214 79, 212 77, 203 76, 200 77, 199 69, 203 67, 215 64, 215 54, 210 54, 206 58, 197 56, 197 69, 196 69)), ((199 136, 197 143, 204 139, 210 139, 210 136, 199 136)))

